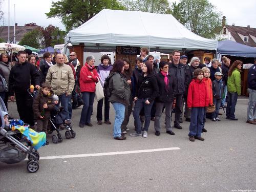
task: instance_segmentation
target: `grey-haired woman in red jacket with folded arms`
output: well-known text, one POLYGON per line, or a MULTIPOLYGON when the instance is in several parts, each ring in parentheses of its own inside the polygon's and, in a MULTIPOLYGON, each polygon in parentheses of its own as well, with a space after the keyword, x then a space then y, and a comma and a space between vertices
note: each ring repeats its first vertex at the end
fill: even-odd
POLYGON ((84 124, 93 126, 91 123, 91 113, 93 109, 95 86, 99 78, 97 70, 94 68, 94 62, 94 56, 88 56, 86 58, 86 63, 80 71, 79 82, 80 90, 82 93, 82 100, 84 103, 79 122, 80 127, 83 127, 84 124))

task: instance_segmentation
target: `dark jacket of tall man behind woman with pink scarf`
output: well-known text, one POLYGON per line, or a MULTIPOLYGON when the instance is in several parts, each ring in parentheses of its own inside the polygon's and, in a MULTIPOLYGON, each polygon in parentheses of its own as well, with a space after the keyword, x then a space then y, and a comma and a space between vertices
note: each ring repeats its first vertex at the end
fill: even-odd
POLYGON ((168 73, 170 74, 170 77, 172 77, 177 81, 176 82, 177 95, 185 93, 188 87, 188 80, 189 80, 186 67, 181 63, 179 63, 178 65, 174 65, 174 63, 169 63, 168 73))

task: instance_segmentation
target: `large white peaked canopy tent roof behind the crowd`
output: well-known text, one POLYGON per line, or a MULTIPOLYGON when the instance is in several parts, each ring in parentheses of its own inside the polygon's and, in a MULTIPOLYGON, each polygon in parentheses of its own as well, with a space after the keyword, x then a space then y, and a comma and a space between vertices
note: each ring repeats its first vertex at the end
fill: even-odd
POLYGON ((115 46, 217 50, 217 40, 203 38, 186 29, 169 14, 103 9, 86 23, 69 31, 73 45, 83 42, 86 50, 114 51, 115 46), (158 26, 158 27, 156 27, 158 26))

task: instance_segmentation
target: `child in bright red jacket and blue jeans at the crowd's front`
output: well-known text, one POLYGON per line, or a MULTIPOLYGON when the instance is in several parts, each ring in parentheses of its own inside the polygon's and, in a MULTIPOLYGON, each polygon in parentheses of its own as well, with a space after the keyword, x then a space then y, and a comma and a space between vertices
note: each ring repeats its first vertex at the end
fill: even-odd
POLYGON ((198 139, 203 141, 201 132, 203 129, 204 110, 209 105, 209 95, 205 81, 204 73, 201 69, 194 71, 194 79, 190 82, 187 94, 187 107, 191 109, 191 118, 189 125, 189 140, 198 139))

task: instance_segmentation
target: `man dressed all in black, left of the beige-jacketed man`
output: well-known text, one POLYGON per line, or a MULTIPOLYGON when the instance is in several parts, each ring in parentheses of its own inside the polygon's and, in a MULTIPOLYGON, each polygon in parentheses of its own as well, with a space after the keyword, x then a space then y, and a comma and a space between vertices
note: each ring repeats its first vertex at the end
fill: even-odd
POLYGON ((9 92, 11 100, 16 96, 17 110, 21 120, 34 125, 33 118, 33 98, 27 92, 30 85, 34 84, 36 89, 40 86, 40 75, 36 68, 26 61, 26 52, 18 52, 18 62, 11 68, 9 76, 9 92))

